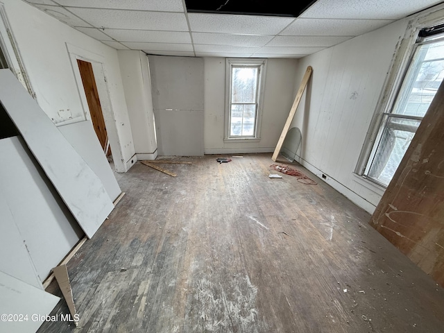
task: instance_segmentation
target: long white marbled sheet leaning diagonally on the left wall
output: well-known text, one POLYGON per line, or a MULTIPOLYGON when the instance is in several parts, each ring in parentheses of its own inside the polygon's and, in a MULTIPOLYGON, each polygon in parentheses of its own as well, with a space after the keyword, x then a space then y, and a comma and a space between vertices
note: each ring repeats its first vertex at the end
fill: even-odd
POLYGON ((114 208, 101 180, 8 69, 0 70, 0 101, 62 200, 92 237, 114 208))

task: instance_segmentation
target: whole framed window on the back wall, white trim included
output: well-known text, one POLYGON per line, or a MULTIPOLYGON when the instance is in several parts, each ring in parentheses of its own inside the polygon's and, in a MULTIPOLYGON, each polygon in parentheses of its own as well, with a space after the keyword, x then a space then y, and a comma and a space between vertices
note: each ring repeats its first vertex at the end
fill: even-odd
POLYGON ((265 60, 227 60, 225 139, 259 138, 265 60))

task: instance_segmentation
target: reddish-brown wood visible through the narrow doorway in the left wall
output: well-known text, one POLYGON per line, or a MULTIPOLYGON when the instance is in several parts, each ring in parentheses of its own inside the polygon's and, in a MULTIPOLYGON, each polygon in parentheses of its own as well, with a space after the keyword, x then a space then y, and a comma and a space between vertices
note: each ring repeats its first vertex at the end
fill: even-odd
MULTIPOLYGON (((83 89, 88 102, 89 113, 91 114, 92 125, 99 138, 100 144, 105 151, 108 135, 105 128, 105 119, 103 119, 102 108, 99 100, 99 92, 97 92, 96 80, 92 71, 91 62, 77 60, 78 69, 80 69, 80 76, 82 77, 83 89)), ((110 155, 111 150, 108 149, 107 155, 110 155)))

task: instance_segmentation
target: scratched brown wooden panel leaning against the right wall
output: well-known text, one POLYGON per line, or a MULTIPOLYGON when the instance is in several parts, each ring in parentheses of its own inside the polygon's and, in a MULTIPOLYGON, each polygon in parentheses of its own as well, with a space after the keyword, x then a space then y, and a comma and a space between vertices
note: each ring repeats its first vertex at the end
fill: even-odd
POLYGON ((444 85, 370 224, 444 286, 444 85))

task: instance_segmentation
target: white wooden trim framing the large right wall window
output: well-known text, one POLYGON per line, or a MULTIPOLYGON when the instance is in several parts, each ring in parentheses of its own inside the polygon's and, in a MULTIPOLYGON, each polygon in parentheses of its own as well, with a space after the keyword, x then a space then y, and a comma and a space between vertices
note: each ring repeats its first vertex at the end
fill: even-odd
POLYGON ((430 26, 437 26, 444 23, 444 5, 439 5, 429 10, 425 10, 416 15, 412 15, 407 25, 407 31, 404 34, 404 38, 398 43, 398 47, 395 51, 395 58, 391 63, 391 68, 388 71, 388 76, 384 83, 382 94, 379 97, 377 103, 376 112, 373 115, 370 129, 366 135, 364 146, 359 155, 355 174, 359 178, 364 179, 371 184, 375 185, 377 189, 385 190, 386 185, 367 178, 365 172, 367 169, 368 161, 373 156, 375 150, 375 142, 378 142, 380 128, 382 128, 382 121, 384 121, 384 114, 390 113, 395 105, 398 92, 401 89, 404 76, 409 70, 411 61, 418 46, 418 33, 421 29, 430 26))

